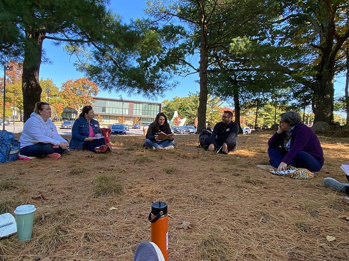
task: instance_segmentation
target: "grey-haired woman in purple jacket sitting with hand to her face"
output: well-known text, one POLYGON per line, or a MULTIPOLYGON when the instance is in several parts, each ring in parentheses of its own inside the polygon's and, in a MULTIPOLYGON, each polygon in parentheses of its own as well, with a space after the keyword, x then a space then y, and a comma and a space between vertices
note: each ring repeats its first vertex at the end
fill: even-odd
POLYGON ((268 145, 270 163, 278 171, 288 165, 319 171, 324 163, 319 139, 295 111, 280 114, 280 125, 268 145))

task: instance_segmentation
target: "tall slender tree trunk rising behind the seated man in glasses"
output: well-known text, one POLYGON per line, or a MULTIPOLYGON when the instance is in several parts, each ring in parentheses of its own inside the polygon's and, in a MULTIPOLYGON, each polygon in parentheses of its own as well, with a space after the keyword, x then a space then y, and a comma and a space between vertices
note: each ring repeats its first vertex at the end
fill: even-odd
POLYGON ((204 6, 200 1, 199 6, 199 21, 200 21, 200 62, 199 62, 199 85, 200 85, 200 96, 199 96, 199 107, 197 108, 197 133, 201 130, 206 129, 206 109, 207 109, 207 57, 208 57, 208 40, 207 40, 207 26, 205 22, 204 6))

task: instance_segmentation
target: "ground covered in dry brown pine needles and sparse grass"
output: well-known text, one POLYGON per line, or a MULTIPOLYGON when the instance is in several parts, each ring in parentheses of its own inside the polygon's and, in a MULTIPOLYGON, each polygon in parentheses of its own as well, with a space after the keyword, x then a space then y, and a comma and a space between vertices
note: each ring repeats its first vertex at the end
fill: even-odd
POLYGON ((24 203, 37 213, 30 241, 0 240, 0 260, 131 261, 150 240, 155 200, 169 205, 171 261, 349 260, 349 200, 322 185, 326 176, 345 181, 348 139, 320 136, 324 167, 313 180, 292 180, 256 168, 268 164, 270 136, 240 135, 229 155, 196 147, 194 134, 176 135, 166 151, 117 136, 108 155, 1 164, 1 213, 24 203), (183 221, 189 229, 178 228, 183 221))

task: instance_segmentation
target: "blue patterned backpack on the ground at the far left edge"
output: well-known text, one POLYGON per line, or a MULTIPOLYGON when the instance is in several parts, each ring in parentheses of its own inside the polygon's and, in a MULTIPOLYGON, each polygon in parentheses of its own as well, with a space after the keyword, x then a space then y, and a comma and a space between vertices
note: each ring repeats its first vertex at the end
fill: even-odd
POLYGON ((0 163, 14 162, 18 158, 20 142, 13 133, 0 130, 0 163))

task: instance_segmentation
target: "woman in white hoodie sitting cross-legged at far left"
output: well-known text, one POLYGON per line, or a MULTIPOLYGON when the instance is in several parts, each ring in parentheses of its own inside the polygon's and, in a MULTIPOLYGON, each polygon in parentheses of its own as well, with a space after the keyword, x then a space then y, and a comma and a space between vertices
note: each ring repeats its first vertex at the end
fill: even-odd
POLYGON ((35 103, 34 112, 25 122, 19 139, 21 155, 57 160, 69 149, 69 142, 58 134, 50 117, 51 108, 47 102, 35 103))

